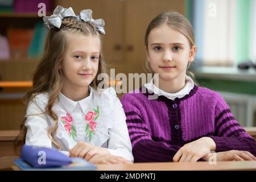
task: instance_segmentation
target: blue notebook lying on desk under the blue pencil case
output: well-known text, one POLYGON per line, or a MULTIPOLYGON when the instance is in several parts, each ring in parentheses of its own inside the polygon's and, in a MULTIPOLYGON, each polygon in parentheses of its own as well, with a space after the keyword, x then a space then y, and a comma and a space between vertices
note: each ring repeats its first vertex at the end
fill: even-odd
POLYGON ((22 171, 92 171, 97 167, 81 158, 72 158, 72 163, 60 167, 35 168, 23 159, 15 159, 14 164, 22 171))

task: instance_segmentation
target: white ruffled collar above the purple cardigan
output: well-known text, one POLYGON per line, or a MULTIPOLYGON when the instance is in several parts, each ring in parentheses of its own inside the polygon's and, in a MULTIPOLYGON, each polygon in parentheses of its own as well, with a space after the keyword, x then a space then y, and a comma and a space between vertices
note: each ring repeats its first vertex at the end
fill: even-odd
POLYGON ((157 86, 154 85, 154 78, 152 78, 149 83, 144 84, 144 86, 148 90, 150 90, 150 92, 153 92, 154 94, 157 94, 158 96, 165 96, 165 97, 169 98, 170 100, 175 100, 175 98, 184 97, 185 95, 189 94, 189 92, 193 89, 193 87, 195 85, 192 78, 186 75, 184 88, 181 89, 177 93, 168 93, 168 92, 164 92, 163 90, 159 89, 157 86))

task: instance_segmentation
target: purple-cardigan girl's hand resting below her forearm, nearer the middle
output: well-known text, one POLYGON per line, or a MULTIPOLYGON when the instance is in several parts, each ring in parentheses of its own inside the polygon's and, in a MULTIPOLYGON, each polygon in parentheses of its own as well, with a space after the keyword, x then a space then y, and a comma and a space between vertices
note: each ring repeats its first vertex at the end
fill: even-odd
POLYGON ((216 150, 216 143, 210 137, 202 137, 184 144, 174 155, 174 162, 197 162, 197 160, 216 150))

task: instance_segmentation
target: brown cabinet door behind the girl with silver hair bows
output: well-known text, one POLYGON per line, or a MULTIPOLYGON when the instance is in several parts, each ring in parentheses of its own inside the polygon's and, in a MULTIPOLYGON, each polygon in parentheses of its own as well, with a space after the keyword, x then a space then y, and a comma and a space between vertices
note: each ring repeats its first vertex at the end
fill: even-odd
POLYGON ((76 15, 79 15, 81 10, 91 9, 93 11, 93 19, 104 19, 106 35, 102 36, 102 51, 105 60, 111 68, 118 68, 123 63, 123 13, 121 0, 57 0, 56 5, 72 7, 76 15))

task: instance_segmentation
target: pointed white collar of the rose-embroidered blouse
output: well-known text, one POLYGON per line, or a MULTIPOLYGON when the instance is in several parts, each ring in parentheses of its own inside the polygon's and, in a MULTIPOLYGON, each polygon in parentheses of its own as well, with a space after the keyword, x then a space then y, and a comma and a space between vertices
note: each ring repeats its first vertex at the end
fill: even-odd
POLYGON ((65 109, 67 109, 67 111, 69 113, 72 113, 75 110, 75 107, 77 105, 79 105, 81 107, 81 109, 85 112, 86 109, 88 108, 88 105, 90 104, 90 101, 92 100, 92 96, 93 96, 93 89, 91 88, 91 86, 89 86, 89 96, 83 98, 80 101, 73 101, 71 99, 69 99, 68 97, 64 96, 63 93, 59 94, 59 98, 60 98, 60 104, 65 107, 65 109))

